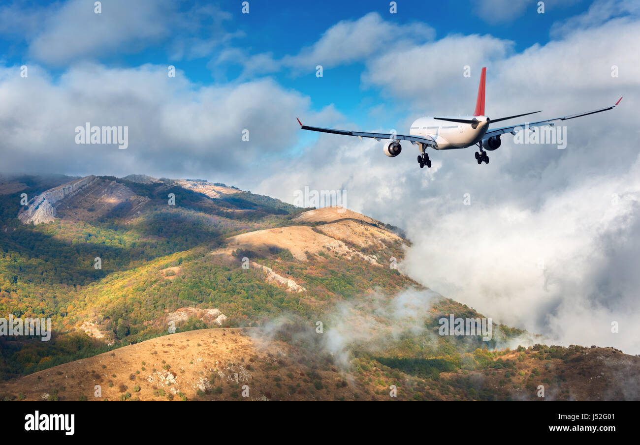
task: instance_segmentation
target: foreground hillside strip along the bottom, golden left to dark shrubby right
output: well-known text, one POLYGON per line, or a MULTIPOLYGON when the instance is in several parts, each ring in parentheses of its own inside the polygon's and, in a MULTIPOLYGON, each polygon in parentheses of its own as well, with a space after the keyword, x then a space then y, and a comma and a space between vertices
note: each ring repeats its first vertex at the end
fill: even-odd
POLYGON ((438 359, 410 363, 363 356, 344 368, 321 348, 305 350, 256 328, 202 329, 143 341, 0 384, 0 398, 403 401, 637 400, 640 396, 637 386, 629 387, 620 379, 640 370, 640 357, 609 348, 484 351, 467 354, 463 361, 467 363, 459 369, 438 359), (475 363, 473 369, 470 361, 475 363), (390 396, 392 385, 396 397, 390 396), (539 385, 545 386, 545 398, 537 396, 539 385))

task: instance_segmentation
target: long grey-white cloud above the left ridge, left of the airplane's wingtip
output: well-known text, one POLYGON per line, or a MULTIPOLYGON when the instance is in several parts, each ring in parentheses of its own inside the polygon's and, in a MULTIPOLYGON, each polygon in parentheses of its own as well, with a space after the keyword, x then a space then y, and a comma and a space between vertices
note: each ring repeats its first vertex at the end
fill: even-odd
POLYGON ((203 87, 156 65, 76 65, 59 80, 35 65, 23 79, 10 66, 0 69, 0 100, 3 169, 76 174, 234 178, 291 150, 296 114, 336 114, 308 111, 307 97, 271 79, 203 87), (129 127, 129 148, 75 144, 86 122, 129 127))

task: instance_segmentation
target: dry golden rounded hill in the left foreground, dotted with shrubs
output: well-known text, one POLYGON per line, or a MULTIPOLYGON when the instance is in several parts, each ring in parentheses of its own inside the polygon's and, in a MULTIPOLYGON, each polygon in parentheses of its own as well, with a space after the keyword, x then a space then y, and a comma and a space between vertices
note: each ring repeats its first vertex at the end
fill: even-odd
POLYGON ((302 359, 296 348, 256 329, 220 328, 62 364, 0 384, 0 394, 24 400, 355 400, 364 393, 353 382, 330 361, 302 359))

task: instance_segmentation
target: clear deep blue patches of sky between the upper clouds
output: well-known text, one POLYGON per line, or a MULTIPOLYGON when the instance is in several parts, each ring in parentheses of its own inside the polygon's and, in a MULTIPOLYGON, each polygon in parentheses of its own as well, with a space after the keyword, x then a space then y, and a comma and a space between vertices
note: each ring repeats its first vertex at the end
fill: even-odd
MULTIPOLYGON (((103 13, 109 14, 111 4, 103 2, 103 13)), ((483 3, 480 3, 481 5, 483 3)), ((487 1, 481 8, 477 1, 400 1, 397 13, 390 13, 387 1, 323 1, 301 2, 295 8, 285 1, 251 1, 250 13, 241 13, 241 2, 213 3, 175 2, 161 8, 167 13, 184 15, 189 20, 186 26, 168 24, 161 35, 153 36, 144 42, 134 40, 132 45, 123 45, 117 51, 96 51, 85 54, 83 58, 97 61, 106 66, 140 66, 145 63, 154 65, 173 64, 184 72, 194 84, 225 84, 246 80, 240 78, 243 63, 236 58, 223 62, 216 59, 229 49, 241 49, 246 56, 271 54, 274 59, 295 56, 305 47, 311 47, 323 33, 341 20, 355 21, 367 13, 377 12, 384 20, 406 26, 421 22, 433 29, 433 35, 424 40, 435 40, 447 35, 492 35, 495 38, 511 40, 513 51, 524 51, 532 45, 544 45, 550 40, 550 29, 553 24, 568 17, 586 12, 587 1, 547 1, 545 13, 537 13, 538 5, 534 1, 487 1), (522 6, 519 6, 522 4, 522 6), (513 10, 505 13, 504 10, 513 10), (484 12, 483 12, 484 10, 484 12), (467 13, 464 13, 464 12, 467 13), (463 13, 461 13, 463 12, 463 13), (177 54, 175 42, 180 39, 207 40, 228 39, 217 43, 202 54, 177 54)), ((5 8, 20 10, 33 15, 38 20, 38 12, 52 14, 60 11, 64 2, 51 4, 47 1, 16 1, 5 8)), ((84 2, 86 13, 92 10, 92 2, 84 2)), ((7 17, 7 15, 5 15, 7 17)), ((83 17, 92 20, 95 17, 83 17)), ((45 19, 40 22, 46 23, 45 19)), ((184 24, 183 24, 184 25, 184 24)), ((4 33, 0 39, 0 53, 4 54, 4 62, 8 65, 22 65, 42 60, 33 58, 29 53, 29 43, 33 41, 41 23, 33 24, 34 29, 25 33, 19 26, 5 23, 4 33)), ((70 25, 72 26, 72 24, 70 25)), ((187 44, 188 45, 188 44, 187 44)), ((340 48, 335 49, 336 52, 340 48)), ((77 59, 76 59, 77 61, 77 59)), ((323 61, 318 60, 322 65, 323 61)), ((66 65, 44 63, 54 77, 65 71, 66 65)), ((337 66, 328 66, 324 71, 325 79, 319 82, 314 64, 305 68, 292 70, 282 68, 267 74, 272 76, 284 88, 291 88, 308 95, 312 107, 316 110, 334 104, 340 113, 351 118, 358 125, 376 125, 367 119, 365 109, 372 103, 383 102, 387 109, 394 110, 391 120, 400 118, 393 98, 385 95, 376 86, 363 86, 360 76, 364 70, 363 60, 347 61, 337 66)), ((425 73, 428 75, 428 73, 425 73)), ((470 98, 472 102, 473 98, 470 98)), ((469 106, 472 104, 470 103, 469 106)), ((380 123, 378 125, 387 125, 380 123)))

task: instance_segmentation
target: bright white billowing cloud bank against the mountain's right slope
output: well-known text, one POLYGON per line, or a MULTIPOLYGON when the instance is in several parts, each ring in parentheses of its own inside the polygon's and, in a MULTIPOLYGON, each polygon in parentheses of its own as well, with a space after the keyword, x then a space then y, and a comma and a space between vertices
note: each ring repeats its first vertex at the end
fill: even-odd
POLYGON ((509 325, 564 345, 614 345, 637 353, 640 328, 633 320, 640 304, 635 286, 625 288, 629 279, 639 284, 637 277, 606 283, 602 270, 640 260, 637 250, 618 251, 622 239, 638 235, 639 173, 636 160, 616 179, 606 173, 583 178, 538 207, 486 202, 474 191, 470 207, 461 199, 445 205, 449 210, 435 203, 442 216, 429 218, 427 230, 412 228, 416 246, 403 267, 509 325), (616 204, 614 194, 621 196, 616 204), (617 336, 611 334, 613 321, 624 326, 617 336))

